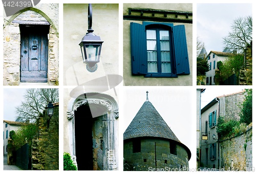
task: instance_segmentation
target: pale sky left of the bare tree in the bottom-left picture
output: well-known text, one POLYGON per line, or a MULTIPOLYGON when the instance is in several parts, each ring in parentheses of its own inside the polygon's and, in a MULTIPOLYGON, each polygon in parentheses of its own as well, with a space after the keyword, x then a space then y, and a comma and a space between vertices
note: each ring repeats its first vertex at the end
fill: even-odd
POLYGON ((6 88, 4 89, 4 120, 15 121, 15 107, 23 101, 25 88, 6 88))

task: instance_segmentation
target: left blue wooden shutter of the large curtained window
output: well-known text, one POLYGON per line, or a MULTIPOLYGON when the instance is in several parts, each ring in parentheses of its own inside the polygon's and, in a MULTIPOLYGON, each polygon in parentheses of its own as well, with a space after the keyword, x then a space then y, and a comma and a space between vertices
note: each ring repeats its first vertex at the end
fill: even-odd
POLYGON ((131 22, 132 73, 147 73, 146 32, 142 24, 131 22))

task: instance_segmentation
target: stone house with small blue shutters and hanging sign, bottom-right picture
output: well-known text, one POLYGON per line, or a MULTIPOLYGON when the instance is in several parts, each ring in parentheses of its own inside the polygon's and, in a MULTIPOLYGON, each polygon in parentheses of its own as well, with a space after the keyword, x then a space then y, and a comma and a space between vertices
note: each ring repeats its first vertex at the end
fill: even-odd
POLYGON ((220 168, 222 151, 216 132, 218 118, 239 120, 240 104, 244 101, 244 90, 232 94, 217 96, 201 109, 200 167, 220 168), (214 136, 215 135, 215 136, 214 136))

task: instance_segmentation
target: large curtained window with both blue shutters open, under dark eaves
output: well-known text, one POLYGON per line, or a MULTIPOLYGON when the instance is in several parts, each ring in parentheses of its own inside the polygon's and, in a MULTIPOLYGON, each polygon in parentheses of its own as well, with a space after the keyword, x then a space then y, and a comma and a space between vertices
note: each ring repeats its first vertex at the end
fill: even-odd
POLYGON ((184 25, 131 22, 132 73, 144 77, 189 74, 184 25))

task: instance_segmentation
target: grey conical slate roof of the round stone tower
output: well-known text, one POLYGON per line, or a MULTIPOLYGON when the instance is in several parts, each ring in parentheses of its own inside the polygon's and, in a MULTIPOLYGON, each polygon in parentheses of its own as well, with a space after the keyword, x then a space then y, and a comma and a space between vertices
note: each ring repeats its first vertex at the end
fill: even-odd
POLYGON ((160 137, 180 142, 148 100, 144 102, 123 134, 124 140, 137 137, 160 137))

